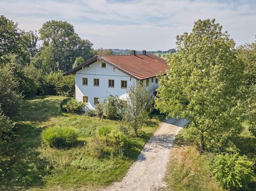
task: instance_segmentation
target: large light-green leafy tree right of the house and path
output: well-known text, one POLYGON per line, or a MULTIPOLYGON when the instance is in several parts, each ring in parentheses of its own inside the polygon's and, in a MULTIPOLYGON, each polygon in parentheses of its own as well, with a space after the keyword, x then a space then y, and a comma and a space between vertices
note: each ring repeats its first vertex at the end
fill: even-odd
POLYGON ((198 20, 177 36, 177 53, 157 89, 156 107, 168 117, 188 119, 187 132, 200 150, 220 149, 242 129, 239 102, 244 65, 235 42, 215 20, 198 20))

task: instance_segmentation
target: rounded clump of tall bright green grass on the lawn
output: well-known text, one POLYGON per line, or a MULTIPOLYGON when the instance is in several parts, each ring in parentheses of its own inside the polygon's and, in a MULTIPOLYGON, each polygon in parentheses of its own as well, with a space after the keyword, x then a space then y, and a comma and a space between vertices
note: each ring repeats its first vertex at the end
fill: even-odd
POLYGON ((67 148, 74 144, 77 133, 69 127, 49 127, 41 134, 43 141, 55 148, 67 148))

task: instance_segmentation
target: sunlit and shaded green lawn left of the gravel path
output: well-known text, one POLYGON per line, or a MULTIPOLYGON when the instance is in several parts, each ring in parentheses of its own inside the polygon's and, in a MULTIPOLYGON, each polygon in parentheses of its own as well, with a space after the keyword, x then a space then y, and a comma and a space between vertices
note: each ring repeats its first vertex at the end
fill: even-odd
POLYGON ((86 152, 88 141, 99 127, 115 129, 121 122, 63 113, 59 108, 63 99, 40 96, 23 101, 15 119, 15 136, 0 148, 0 190, 96 189, 119 181, 159 124, 154 117, 143 126, 139 138, 129 137, 125 156, 94 158, 86 152), (54 125, 75 128, 76 145, 59 150, 43 145, 42 130, 54 125))

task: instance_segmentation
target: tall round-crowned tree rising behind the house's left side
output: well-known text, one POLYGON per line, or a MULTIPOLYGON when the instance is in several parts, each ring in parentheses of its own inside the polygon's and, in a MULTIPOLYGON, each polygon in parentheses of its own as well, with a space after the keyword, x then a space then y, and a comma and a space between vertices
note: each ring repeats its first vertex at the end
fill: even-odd
MULTIPOLYGON (((67 71, 78 56, 88 60, 94 56, 92 43, 74 32, 74 26, 63 21, 47 21, 39 30, 43 46, 50 46, 53 53, 53 70, 67 71)), ((47 58, 45 58, 47 59, 47 58)))

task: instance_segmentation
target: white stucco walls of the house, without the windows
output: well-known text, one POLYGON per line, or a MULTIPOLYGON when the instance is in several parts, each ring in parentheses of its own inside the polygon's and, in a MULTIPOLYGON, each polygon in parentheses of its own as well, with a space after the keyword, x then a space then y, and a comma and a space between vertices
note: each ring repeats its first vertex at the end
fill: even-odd
MULTIPOLYGON (((127 81, 129 88, 132 84, 140 84, 140 81, 124 74, 118 69, 114 69, 112 66, 106 63, 106 68, 101 68, 101 62, 97 61, 85 67, 75 74, 75 98, 78 101, 83 101, 83 96, 88 96, 88 104, 85 109, 92 109, 94 106, 94 98, 99 98, 99 102, 102 102, 107 98, 109 94, 116 96, 118 95, 121 99, 126 98, 126 89, 121 88, 121 80, 127 81), (88 79, 88 85, 83 85, 83 77, 88 79), (99 87, 94 86, 93 79, 99 79, 99 87), (115 80, 115 87, 108 87, 108 80, 115 80)), ((158 84, 149 79, 149 86, 146 87, 146 80, 143 80, 143 86, 146 87, 149 93, 155 92, 158 84)))

